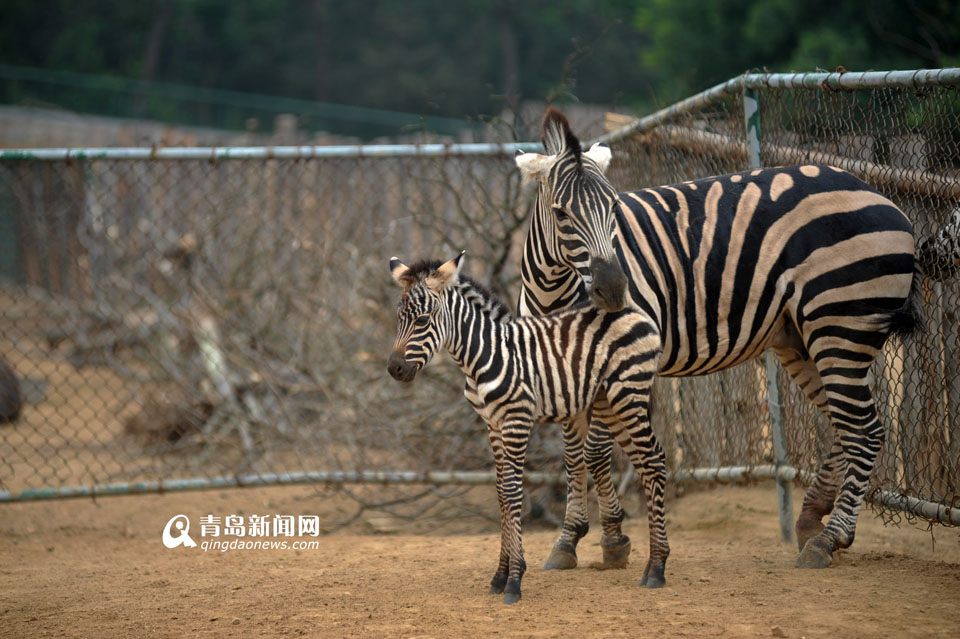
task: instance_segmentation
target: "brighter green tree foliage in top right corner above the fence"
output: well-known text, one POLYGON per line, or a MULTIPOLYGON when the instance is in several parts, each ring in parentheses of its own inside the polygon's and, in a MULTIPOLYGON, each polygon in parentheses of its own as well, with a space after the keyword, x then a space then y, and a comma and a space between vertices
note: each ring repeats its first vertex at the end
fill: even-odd
POLYGON ((960 64, 956 0, 649 0, 634 25, 661 103, 749 70, 960 64))

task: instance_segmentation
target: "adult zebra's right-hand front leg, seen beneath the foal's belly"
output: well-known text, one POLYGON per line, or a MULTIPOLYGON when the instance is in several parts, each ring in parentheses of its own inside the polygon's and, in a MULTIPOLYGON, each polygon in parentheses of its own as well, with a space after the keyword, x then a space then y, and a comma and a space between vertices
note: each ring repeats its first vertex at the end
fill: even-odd
POLYGON ((595 568, 607 570, 610 568, 626 568, 630 561, 630 538, 623 534, 621 524, 626 517, 617 489, 613 485, 610 469, 613 461, 612 429, 607 423, 615 423, 616 415, 610 412, 606 395, 601 391, 593 406, 593 421, 587 432, 587 443, 584 448, 584 459, 587 469, 593 477, 597 489, 597 500, 600 504, 600 525, 603 536, 600 538, 600 548, 603 551, 603 563, 593 565, 595 568))

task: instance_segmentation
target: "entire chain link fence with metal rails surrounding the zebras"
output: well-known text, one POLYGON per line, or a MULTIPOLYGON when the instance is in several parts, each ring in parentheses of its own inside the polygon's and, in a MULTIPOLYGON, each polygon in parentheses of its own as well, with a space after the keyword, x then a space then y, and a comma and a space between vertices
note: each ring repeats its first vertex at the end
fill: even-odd
MULTIPOLYGON (((735 78, 605 136, 611 179, 631 190, 829 163, 924 237, 960 200, 960 76, 878 76, 735 78), (759 108, 753 156, 745 105, 759 108)), ((387 263, 465 248, 468 271, 514 306, 534 195, 518 146, 538 145, 0 153, 0 354, 24 400, 0 425, 0 495, 376 481, 343 490, 412 517, 467 489, 448 484, 489 481, 460 372, 438 358, 412 386, 385 373, 387 263)), ((888 437, 873 496, 888 519, 922 503, 960 521, 944 508, 960 508, 958 286, 928 284, 926 332, 874 369, 888 437)), ((773 393, 763 361, 658 380, 674 479, 809 478, 832 433, 777 375, 773 393)), ((534 483, 562 483, 556 427, 535 431, 528 457, 534 483)), ((562 494, 538 491, 535 511, 562 494)))

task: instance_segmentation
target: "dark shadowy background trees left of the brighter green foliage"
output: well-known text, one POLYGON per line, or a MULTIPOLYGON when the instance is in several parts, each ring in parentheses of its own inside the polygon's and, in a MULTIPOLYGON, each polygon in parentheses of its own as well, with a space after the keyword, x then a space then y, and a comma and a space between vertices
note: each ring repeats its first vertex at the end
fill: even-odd
POLYGON ((449 117, 548 94, 630 99, 644 81, 620 0, 4 4, 0 61, 19 66, 449 117))

